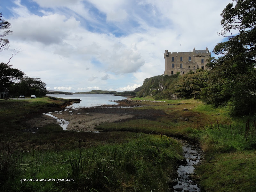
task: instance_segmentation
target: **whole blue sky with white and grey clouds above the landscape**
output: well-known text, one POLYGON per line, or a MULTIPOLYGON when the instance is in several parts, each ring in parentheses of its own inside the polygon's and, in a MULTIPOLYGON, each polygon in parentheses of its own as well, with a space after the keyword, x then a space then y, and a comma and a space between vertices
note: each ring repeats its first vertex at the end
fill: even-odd
MULTIPOLYGON (((0 0, 12 24, 7 63, 48 90, 130 91, 164 73, 164 51, 223 41, 221 12, 231 0, 0 0)), ((213 54, 212 54, 213 55, 213 54)))

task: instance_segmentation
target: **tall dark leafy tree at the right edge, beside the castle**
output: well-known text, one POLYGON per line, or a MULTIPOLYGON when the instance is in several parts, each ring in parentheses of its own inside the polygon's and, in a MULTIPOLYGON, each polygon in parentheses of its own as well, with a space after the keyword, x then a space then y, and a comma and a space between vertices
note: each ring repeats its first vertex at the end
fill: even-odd
POLYGON ((230 107, 232 115, 250 114, 256 107, 256 1, 233 0, 223 10, 220 35, 226 42, 217 44, 211 58, 204 100, 215 106, 230 107))

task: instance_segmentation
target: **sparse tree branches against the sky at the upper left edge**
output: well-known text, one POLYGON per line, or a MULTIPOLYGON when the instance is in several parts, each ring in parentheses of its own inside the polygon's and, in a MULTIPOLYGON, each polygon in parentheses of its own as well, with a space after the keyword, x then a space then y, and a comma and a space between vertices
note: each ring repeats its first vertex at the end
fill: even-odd
POLYGON ((0 13, 0 30, 5 30, 5 31, 3 33, 0 33, 0 52, 10 48, 8 45, 9 40, 3 39, 2 37, 12 34, 12 31, 9 30, 9 28, 11 27, 11 23, 3 20, 1 17, 2 17, 2 13, 0 13))

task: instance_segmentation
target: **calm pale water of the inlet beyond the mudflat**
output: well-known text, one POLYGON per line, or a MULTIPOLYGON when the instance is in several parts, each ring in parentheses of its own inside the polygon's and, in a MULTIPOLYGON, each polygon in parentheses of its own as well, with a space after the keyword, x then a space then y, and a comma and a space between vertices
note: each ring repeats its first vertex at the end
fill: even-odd
POLYGON ((47 96, 65 98, 65 99, 80 99, 80 103, 74 103, 69 106, 69 108, 87 108, 87 107, 95 107, 102 105, 116 105, 113 100, 123 100, 127 99, 127 97, 123 96, 114 96, 114 95, 103 95, 103 94, 72 94, 72 95, 53 95, 47 94, 47 96))

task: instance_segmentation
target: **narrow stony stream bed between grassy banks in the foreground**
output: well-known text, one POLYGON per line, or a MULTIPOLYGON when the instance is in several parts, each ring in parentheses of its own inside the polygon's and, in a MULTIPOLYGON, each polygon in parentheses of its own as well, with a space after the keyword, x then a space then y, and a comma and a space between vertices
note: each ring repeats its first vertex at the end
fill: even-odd
POLYGON ((196 145, 190 144, 187 141, 180 140, 183 144, 183 156, 185 160, 183 160, 181 165, 179 166, 178 178, 175 180, 176 185, 173 186, 174 191, 181 192, 199 192, 200 187, 191 180, 191 175, 194 173, 194 166, 200 162, 202 158, 202 151, 196 145))

